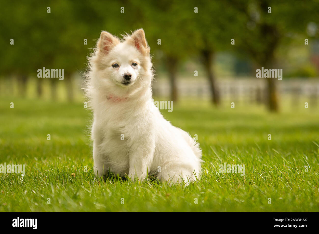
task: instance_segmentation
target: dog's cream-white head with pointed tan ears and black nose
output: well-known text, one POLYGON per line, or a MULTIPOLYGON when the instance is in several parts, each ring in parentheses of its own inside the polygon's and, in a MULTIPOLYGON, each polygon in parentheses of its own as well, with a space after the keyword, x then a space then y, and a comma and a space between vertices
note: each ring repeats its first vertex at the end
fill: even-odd
POLYGON ((103 31, 91 62, 98 70, 99 86, 112 89, 115 95, 151 84, 150 47, 143 29, 121 40, 103 31))

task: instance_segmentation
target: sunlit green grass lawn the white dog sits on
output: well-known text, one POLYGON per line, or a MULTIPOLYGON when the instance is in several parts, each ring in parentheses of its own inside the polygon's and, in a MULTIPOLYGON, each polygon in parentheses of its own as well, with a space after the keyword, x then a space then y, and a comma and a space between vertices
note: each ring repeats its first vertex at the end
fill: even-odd
POLYGON ((197 134, 203 149, 202 179, 187 187, 94 181, 83 103, 2 98, 0 164, 26 164, 26 175, 0 174, 0 211, 319 211, 318 111, 173 107, 163 115, 197 134), (245 175, 219 173, 225 162, 244 164, 245 175))

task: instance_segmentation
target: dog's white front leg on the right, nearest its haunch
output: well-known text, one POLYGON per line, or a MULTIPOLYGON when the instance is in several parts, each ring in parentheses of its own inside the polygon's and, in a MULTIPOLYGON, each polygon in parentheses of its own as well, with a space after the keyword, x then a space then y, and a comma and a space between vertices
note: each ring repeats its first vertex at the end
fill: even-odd
POLYGON ((129 155, 130 169, 128 177, 131 181, 143 181, 150 170, 153 161, 153 148, 150 146, 141 146, 129 155))

